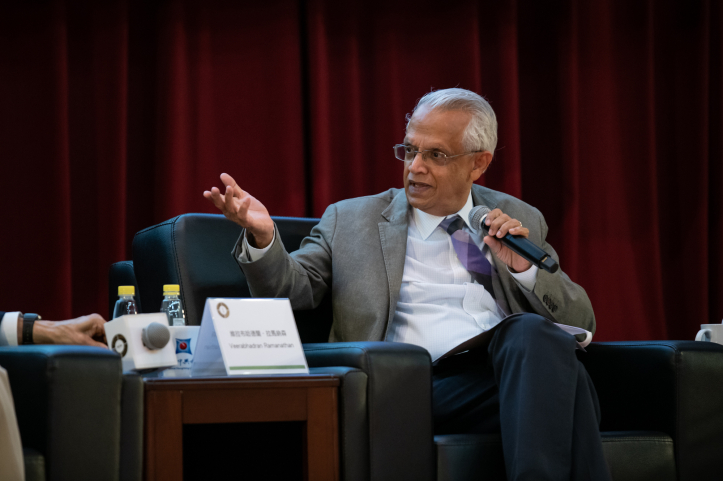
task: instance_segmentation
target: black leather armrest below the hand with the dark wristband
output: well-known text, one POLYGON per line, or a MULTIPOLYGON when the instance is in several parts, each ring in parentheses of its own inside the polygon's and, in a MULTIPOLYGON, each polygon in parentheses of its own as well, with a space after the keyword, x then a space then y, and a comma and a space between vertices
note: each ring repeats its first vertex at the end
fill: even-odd
POLYGON ((85 346, 0 348, 23 446, 49 479, 118 479, 121 360, 85 346))

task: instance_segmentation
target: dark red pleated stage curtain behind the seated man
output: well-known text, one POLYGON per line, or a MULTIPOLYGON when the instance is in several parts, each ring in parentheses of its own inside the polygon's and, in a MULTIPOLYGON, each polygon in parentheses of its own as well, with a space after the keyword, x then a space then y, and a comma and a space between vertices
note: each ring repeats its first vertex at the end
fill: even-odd
POLYGON ((538 207, 597 340, 723 318, 719 2, 141 0, 0 6, 0 307, 105 314, 133 234, 213 212, 228 172, 275 215, 401 186, 431 88, 500 123, 481 183, 538 207))

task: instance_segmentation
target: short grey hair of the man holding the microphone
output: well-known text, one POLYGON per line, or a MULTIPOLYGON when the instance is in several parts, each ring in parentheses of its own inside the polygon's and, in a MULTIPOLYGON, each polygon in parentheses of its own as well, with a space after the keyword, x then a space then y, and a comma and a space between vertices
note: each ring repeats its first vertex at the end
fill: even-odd
POLYGON ((414 112, 426 105, 430 109, 463 110, 472 114, 462 137, 467 151, 488 150, 495 152, 497 147, 497 117, 494 110, 482 96, 465 89, 444 89, 429 92, 419 99, 412 115, 407 117, 407 128, 414 112))

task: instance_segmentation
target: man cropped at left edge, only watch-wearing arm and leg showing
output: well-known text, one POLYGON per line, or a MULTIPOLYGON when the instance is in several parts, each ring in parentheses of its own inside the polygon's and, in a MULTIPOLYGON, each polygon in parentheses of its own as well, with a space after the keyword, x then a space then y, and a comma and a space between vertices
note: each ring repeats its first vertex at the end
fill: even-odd
MULTIPOLYGON (((0 346, 83 344, 107 348, 105 320, 98 314, 68 321, 41 321, 35 314, 0 311, 0 346), (23 327, 25 326, 25 338, 23 327)), ((0 366, 0 479, 25 479, 23 451, 7 371, 0 366)))

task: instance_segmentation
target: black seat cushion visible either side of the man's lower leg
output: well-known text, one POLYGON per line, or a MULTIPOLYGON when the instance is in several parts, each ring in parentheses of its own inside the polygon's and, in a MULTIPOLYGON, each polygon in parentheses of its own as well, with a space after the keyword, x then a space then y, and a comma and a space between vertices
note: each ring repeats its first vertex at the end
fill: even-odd
MULTIPOLYGON (((674 481, 670 436, 650 431, 601 433, 605 459, 614 481, 674 481)), ((437 481, 503 481, 502 440, 495 434, 447 434, 434 437, 437 481)))

